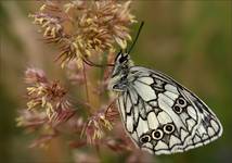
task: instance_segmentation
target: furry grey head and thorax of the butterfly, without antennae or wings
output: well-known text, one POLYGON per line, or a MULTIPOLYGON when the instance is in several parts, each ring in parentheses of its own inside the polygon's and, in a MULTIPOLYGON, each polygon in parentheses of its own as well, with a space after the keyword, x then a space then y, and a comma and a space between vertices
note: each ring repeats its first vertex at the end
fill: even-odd
POLYGON ((133 65, 128 53, 119 52, 115 58, 115 64, 112 77, 108 83, 108 89, 115 91, 125 91, 127 88, 127 76, 129 68, 133 65))

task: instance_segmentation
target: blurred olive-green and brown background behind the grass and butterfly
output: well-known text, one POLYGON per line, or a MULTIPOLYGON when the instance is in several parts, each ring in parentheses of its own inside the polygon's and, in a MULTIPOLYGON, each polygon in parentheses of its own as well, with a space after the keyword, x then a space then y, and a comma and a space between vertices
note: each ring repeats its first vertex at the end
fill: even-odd
MULTIPOLYGON (((39 40, 41 36, 27 17, 37 8, 37 2, 30 0, 0 2, 1 163, 73 160, 65 146, 61 149, 54 143, 47 151, 28 149, 34 136, 15 127, 17 110, 25 106, 25 68, 38 66, 46 70, 50 78, 61 78, 60 66, 52 63, 55 48, 39 40)), ((131 53, 134 62, 159 70, 193 90, 214 110, 224 128, 223 136, 208 146, 185 153, 154 156, 154 162, 231 162, 232 2, 136 0, 132 12, 139 21, 145 21, 131 53)), ((113 163, 123 156, 106 158, 113 163)))

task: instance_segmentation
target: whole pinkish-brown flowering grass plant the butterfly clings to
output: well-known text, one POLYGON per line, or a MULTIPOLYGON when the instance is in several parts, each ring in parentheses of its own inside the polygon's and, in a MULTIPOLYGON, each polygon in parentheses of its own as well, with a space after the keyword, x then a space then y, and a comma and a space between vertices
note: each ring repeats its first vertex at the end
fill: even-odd
MULTIPOLYGON (((85 98, 73 98, 67 91, 70 88, 48 79, 43 71, 27 68, 27 106, 20 111, 17 126, 37 133, 38 138, 30 147, 49 146, 54 137, 69 134, 76 137, 68 140, 72 148, 91 145, 115 152, 131 151, 133 145, 123 131, 115 99, 105 89, 111 68, 103 68, 103 76, 95 79, 87 64, 91 60, 104 61, 105 54, 106 62, 112 63, 116 45, 121 49, 127 47, 131 40, 130 25, 136 22, 130 13, 131 2, 46 0, 41 3, 39 11, 29 17, 38 25, 44 42, 60 47, 56 60, 65 67, 67 80, 73 84, 69 86, 98 97, 101 104, 91 103, 88 96, 86 100, 77 100, 85 98)), ((82 160, 83 155, 87 154, 76 153, 75 158, 82 160)), ((88 155, 91 156, 85 158, 86 162, 96 156, 88 155)))

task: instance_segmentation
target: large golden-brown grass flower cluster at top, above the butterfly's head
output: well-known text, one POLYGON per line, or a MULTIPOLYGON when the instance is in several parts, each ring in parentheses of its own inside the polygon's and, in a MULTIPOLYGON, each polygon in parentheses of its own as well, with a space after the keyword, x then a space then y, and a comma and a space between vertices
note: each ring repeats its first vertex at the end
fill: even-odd
POLYGON ((129 25, 136 22, 130 14, 130 1, 46 1, 39 12, 30 14, 34 23, 40 26, 47 42, 60 46, 57 59, 62 65, 120 48, 131 40, 129 25))

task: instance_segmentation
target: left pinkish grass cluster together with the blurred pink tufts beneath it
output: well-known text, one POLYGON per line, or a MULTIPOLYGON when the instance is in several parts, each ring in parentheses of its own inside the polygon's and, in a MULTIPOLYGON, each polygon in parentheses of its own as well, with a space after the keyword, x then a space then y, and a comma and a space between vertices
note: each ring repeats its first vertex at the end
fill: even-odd
POLYGON ((50 82, 43 71, 27 68, 25 82, 28 85, 27 109, 20 111, 16 123, 27 131, 39 134, 29 147, 46 148, 59 136, 57 127, 75 115, 75 110, 65 88, 59 82, 50 82))

